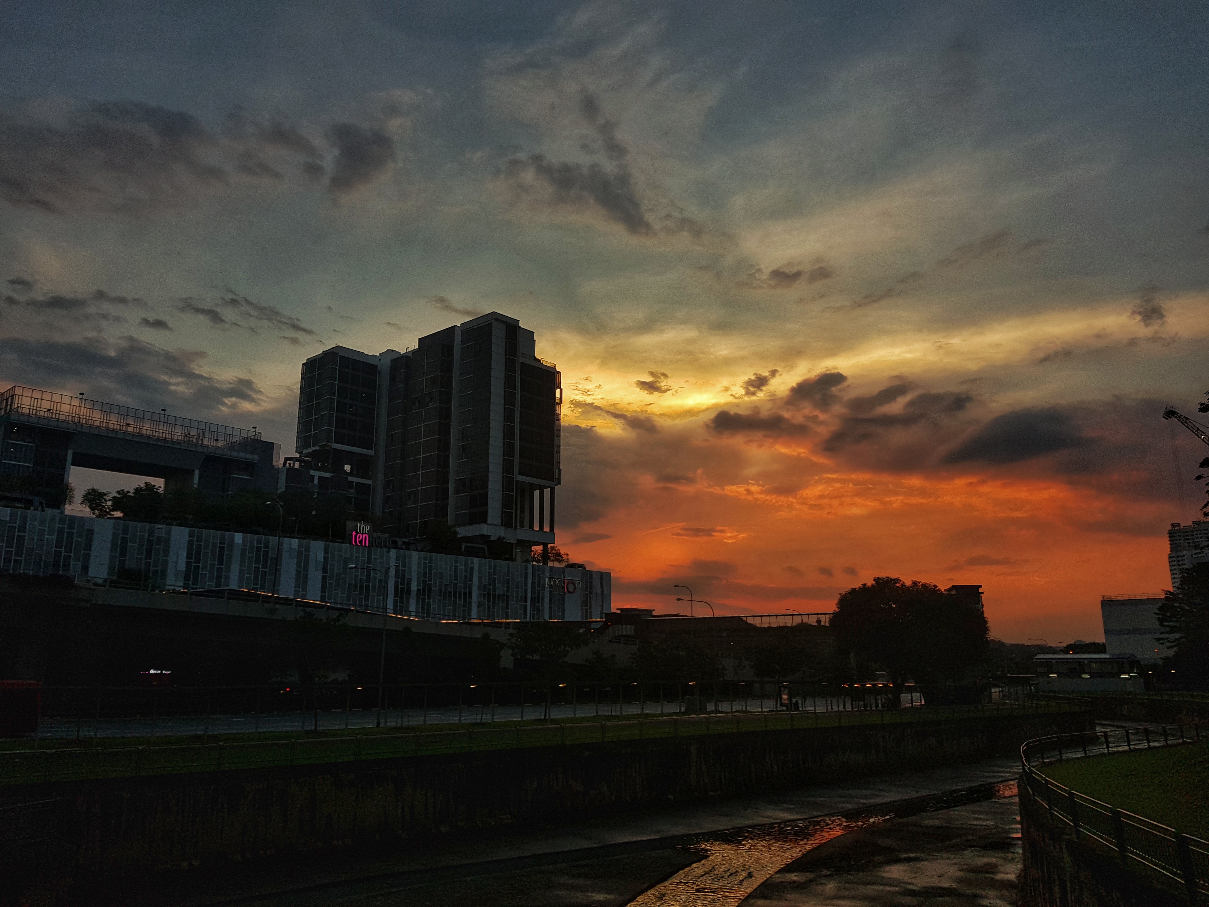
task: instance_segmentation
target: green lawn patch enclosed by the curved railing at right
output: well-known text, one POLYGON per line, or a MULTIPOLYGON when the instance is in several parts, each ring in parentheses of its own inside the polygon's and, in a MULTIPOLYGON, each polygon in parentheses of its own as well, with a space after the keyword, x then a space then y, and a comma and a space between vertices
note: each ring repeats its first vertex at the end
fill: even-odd
POLYGON ((1060 785, 1209 840, 1209 741, 1045 766, 1060 785))

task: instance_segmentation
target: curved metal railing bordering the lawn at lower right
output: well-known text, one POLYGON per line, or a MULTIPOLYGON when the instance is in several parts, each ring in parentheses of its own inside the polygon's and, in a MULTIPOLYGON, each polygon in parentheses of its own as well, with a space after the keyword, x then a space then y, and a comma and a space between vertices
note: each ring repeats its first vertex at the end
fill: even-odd
POLYGON ((1026 741, 1020 747, 1020 764, 1028 791, 1048 809, 1052 820, 1070 826, 1076 840, 1104 844, 1120 856, 1122 866, 1128 867, 1129 861, 1135 860, 1182 884, 1190 901, 1196 903, 1198 894, 1209 892, 1209 840, 1116 809, 1051 780, 1036 767, 1068 757, 1094 757, 1199 740, 1199 726, 1184 724, 1059 734, 1026 741))

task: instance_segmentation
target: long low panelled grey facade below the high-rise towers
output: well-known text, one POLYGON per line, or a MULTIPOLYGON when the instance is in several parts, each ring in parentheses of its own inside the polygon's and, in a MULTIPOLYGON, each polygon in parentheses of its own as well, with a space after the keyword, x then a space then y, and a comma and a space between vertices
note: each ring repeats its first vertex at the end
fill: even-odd
POLYGON ((602 571, 0 507, 0 572, 243 589, 428 620, 596 620, 602 571), (352 568, 351 568, 352 567, 352 568))

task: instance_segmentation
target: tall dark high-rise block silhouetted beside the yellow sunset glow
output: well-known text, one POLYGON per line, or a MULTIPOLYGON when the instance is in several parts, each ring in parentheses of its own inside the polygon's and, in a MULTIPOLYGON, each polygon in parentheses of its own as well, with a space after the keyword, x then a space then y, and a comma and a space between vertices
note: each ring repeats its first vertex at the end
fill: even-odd
POLYGON ((562 388, 533 331, 491 312, 378 356, 306 360, 289 486, 347 495, 397 538, 449 522, 467 544, 555 541, 562 388))

